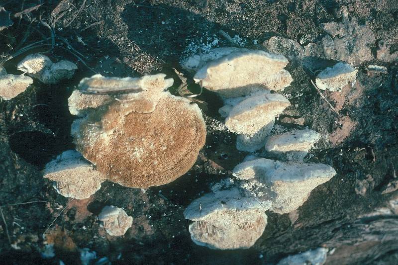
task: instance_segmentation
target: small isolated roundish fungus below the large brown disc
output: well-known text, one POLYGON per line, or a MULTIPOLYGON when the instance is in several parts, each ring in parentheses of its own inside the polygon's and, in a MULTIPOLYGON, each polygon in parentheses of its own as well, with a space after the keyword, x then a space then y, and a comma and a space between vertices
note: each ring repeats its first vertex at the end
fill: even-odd
POLYGON ((110 236, 123 236, 133 224, 133 217, 119 207, 110 205, 103 207, 98 220, 110 236))

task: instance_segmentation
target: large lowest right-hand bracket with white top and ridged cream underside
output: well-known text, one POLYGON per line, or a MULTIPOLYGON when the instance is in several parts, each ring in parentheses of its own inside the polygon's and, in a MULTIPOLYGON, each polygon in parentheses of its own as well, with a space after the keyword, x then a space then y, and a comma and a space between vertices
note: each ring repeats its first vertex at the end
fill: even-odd
POLYGON ((189 227, 192 240, 211 249, 247 249, 263 234, 267 204, 243 197, 237 188, 208 193, 184 211, 195 221, 189 227))

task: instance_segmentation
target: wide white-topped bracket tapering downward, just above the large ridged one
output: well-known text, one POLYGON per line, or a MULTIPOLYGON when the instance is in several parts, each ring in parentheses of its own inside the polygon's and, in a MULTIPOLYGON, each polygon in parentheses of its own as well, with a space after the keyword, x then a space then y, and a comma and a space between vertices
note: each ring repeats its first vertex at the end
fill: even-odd
POLYGON ((271 210, 289 213, 300 207, 316 186, 336 175, 324 164, 283 163, 269 159, 255 159, 237 165, 233 175, 239 179, 255 180, 270 194, 271 210))

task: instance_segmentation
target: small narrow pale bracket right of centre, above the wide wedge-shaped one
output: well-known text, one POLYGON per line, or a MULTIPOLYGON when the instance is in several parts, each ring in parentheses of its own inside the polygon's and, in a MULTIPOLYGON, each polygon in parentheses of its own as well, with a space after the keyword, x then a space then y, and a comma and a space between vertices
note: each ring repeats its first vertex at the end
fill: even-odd
POLYGON ((293 130, 269 137, 265 150, 274 154, 287 155, 289 160, 302 160, 319 139, 320 133, 314 130, 293 130))

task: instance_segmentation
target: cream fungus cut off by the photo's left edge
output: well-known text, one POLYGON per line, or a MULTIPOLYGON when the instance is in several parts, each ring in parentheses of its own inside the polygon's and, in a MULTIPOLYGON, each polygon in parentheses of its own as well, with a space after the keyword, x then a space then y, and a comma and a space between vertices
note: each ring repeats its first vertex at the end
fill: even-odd
POLYGON ((4 100, 9 100, 19 95, 33 80, 24 75, 8 75, 4 68, 0 67, 0 97, 4 100))

